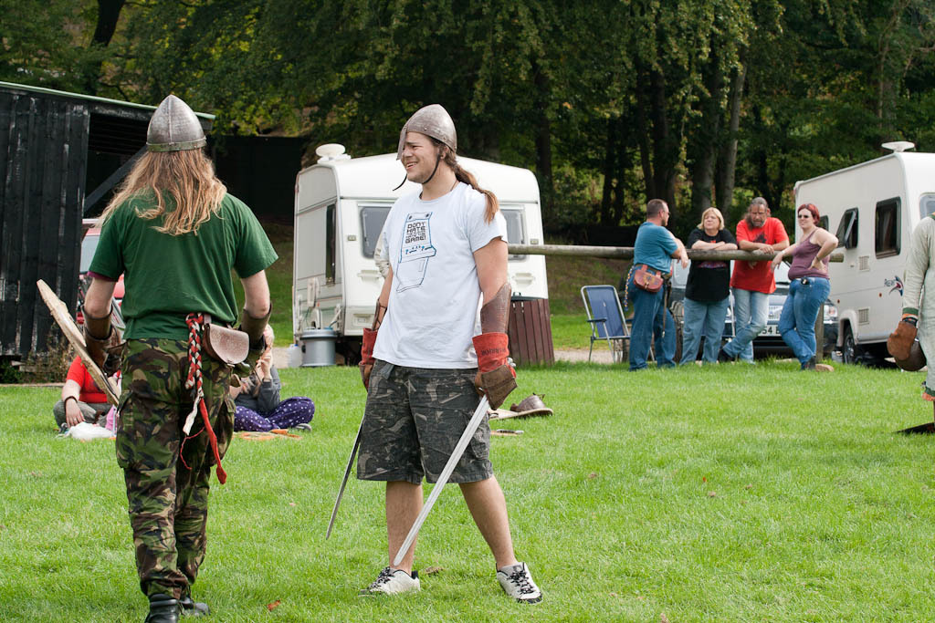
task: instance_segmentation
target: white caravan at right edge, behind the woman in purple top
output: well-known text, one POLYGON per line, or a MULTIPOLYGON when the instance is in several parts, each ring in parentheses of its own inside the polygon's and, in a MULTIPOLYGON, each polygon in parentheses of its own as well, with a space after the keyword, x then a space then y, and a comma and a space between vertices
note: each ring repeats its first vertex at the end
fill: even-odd
POLYGON ((935 153, 904 151, 912 147, 886 143, 893 153, 796 182, 796 205, 818 207, 822 226, 838 236, 836 252, 844 255, 844 262, 828 266, 844 361, 889 356, 886 337, 902 313, 913 229, 935 212, 935 153))

